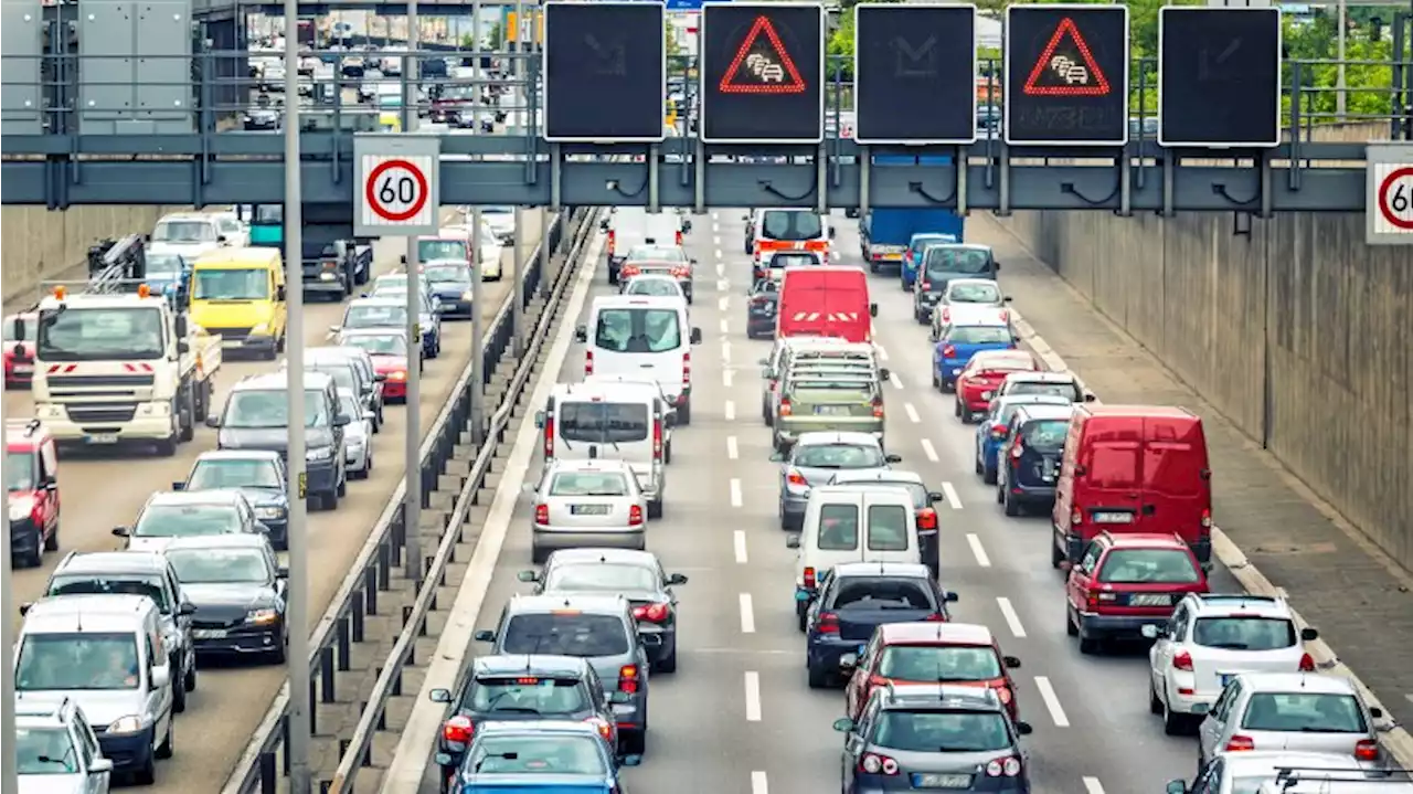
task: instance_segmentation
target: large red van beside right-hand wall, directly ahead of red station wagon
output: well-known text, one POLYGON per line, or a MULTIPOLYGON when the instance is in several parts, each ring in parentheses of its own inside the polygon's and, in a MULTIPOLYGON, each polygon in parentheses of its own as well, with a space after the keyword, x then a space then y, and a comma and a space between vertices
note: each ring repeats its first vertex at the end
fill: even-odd
POLYGON ((1070 421, 1050 562, 1078 562, 1099 533, 1178 535, 1212 557, 1212 472, 1202 420, 1161 405, 1078 405, 1070 421))

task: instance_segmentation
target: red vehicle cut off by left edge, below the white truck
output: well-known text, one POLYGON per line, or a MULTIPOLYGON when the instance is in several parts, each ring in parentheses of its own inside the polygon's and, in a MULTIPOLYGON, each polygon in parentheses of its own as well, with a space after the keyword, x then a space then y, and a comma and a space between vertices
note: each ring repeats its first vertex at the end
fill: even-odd
POLYGON ((10 456, 10 555, 17 567, 38 568, 45 551, 59 548, 59 456, 40 420, 6 422, 10 456))

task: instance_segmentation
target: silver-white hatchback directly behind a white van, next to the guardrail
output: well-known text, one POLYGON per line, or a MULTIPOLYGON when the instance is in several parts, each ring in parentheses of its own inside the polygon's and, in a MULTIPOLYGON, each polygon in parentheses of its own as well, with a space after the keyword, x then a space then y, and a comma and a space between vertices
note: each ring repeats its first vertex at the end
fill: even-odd
POLYGON ((560 548, 646 548, 647 500, 623 461, 554 461, 534 500, 536 562, 560 548))

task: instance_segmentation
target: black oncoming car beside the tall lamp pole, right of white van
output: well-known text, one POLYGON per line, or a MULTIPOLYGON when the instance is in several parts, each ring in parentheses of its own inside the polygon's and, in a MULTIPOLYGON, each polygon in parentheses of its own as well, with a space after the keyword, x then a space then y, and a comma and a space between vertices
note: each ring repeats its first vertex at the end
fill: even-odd
POLYGON ((260 535, 177 538, 162 551, 196 612, 191 636, 202 656, 253 656, 284 664, 288 569, 260 535))

